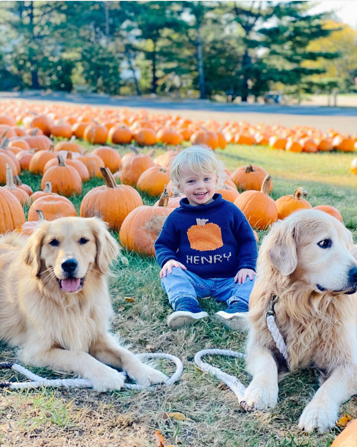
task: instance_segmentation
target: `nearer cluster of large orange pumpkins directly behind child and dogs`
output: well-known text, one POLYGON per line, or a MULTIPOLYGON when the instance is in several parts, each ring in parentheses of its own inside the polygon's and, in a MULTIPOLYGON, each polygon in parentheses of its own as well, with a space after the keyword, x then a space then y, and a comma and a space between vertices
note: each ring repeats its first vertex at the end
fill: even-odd
MULTIPOLYGON (((13 176, 13 169, 10 164, 7 164, 6 186, 0 188, 0 197, 3 196, 0 206, 3 206, 4 209, 4 222, 0 231, 11 231, 18 228, 29 234, 36 226, 31 222, 36 222, 39 219, 38 211, 42 211, 47 220, 76 215, 76 209, 72 202, 64 196, 81 194, 82 179, 79 172, 80 169, 87 168, 87 166, 80 160, 68 158, 72 152, 66 152, 63 149, 66 144, 73 143, 59 143, 56 148, 36 152, 31 159, 30 165, 38 154, 42 156, 47 154, 49 157, 47 161, 40 157, 36 159, 38 163, 36 163, 35 173, 43 173, 42 191, 32 193, 28 185, 21 184, 18 176, 13 176), (67 153, 67 158, 59 155, 64 155, 64 153, 67 153), (80 169, 79 166, 72 166, 70 164, 72 161, 78 161, 83 166, 80 169), (40 168, 40 164, 43 166, 42 168, 40 168), (8 195, 12 195, 12 200, 8 195), (28 214, 29 223, 25 223, 21 204, 30 204, 31 202, 28 214)), ((97 148, 96 151, 98 155, 94 155, 94 157, 101 160, 101 165, 97 171, 92 171, 92 175, 104 177, 105 185, 93 188, 84 196, 80 206, 80 215, 82 217, 101 217, 108 223, 110 229, 120 230, 120 239, 128 249, 153 255, 153 244, 161 231, 164 220, 172 209, 180 206, 179 202, 182 198, 181 195, 172 193, 172 183, 169 179, 169 167, 177 152, 167 151, 152 160, 151 156, 147 154, 135 154, 134 152, 121 158, 118 152, 108 147, 97 148), (121 170, 116 171, 117 168, 121 170), (115 177, 120 177, 120 185, 117 185, 115 177), (162 193, 160 200, 153 207, 144 206, 140 194, 133 186, 152 196, 162 193)), ((77 158, 80 158, 80 153, 78 154, 77 158)), ((84 155, 84 160, 89 160, 91 157, 91 154, 84 155)), ((218 192, 226 200, 234 202, 244 212, 252 228, 258 230, 268 228, 271 223, 277 219, 284 219, 293 211, 311 208, 310 203, 302 197, 306 195, 302 188, 295 190, 292 195, 283 196, 274 201, 269 197, 269 193, 273 189, 271 177, 258 166, 243 166, 237 168, 233 173, 228 169, 225 171, 226 180, 223 188, 218 192), (239 194, 237 187, 245 191, 239 194)), ((88 168, 87 172, 89 172, 88 168)), ((326 211, 342 221, 340 212, 334 207, 315 208, 326 211)))

